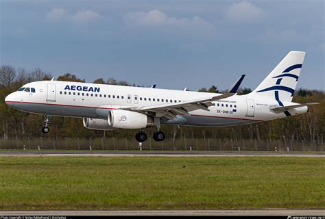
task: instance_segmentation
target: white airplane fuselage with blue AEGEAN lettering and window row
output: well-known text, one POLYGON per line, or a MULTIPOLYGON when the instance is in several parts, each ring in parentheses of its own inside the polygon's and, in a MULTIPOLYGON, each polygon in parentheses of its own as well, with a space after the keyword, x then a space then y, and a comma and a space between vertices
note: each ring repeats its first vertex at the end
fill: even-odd
MULTIPOLYGON (((36 81, 23 87, 31 89, 29 92, 13 92, 5 98, 5 102, 17 110, 34 114, 106 120, 108 111, 112 109, 161 105, 217 95, 70 81, 36 81), (32 92, 32 88, 35 92, 32 92)), ((213 106, 208 107, 208 111, 193 110, 189 115, 178 115, 175 120, 162 120, 162 124, 217 127, 286 117, 283 112, 270 110, 270 107, 278 105, 276 99, 263 99, 254 94, 234 95, 213 103, 213 106)), ((283 102, 283 104, 295 103, 283 102)), ((307 107, 289 110, 292 116, 306 111, 307 107)))

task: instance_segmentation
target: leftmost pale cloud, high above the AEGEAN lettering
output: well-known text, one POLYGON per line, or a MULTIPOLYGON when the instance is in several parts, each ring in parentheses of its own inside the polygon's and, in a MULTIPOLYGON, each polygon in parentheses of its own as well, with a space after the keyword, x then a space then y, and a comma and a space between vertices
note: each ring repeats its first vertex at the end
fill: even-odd
POLYGON ((46 14, 46 20, 53 23, 60 21, 87 23, 90 21, 95 21, 98 18, 99 14, 97 12, 94 12, 93 10, 82 10, 79 12, 75 12, 75 14, 69 14, 66 10, 62 8, 53 8, 46 14))

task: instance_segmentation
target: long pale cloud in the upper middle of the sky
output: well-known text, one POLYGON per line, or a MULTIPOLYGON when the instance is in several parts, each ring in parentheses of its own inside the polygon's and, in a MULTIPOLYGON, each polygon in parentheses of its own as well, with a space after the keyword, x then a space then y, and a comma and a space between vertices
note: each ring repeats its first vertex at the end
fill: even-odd
POLYGON ((126 23, 132 23, 143 26, 200 26, 212 29, 213 25, 199 16, 193 18, 176 18, 168 16, 159 10, 151 10, 149 12, 128 12, 125 15, 126 23))

